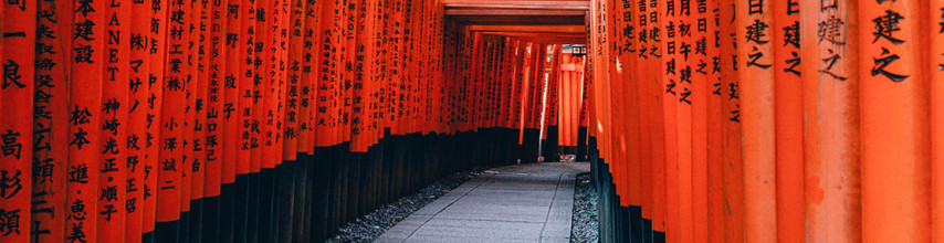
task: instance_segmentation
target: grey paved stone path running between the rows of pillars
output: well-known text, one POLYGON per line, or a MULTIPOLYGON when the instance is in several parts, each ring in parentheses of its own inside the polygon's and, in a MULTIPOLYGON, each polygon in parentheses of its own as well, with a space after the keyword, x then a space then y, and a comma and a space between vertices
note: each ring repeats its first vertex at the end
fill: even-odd
POLYGON ((589 170, 586 162, 487 170, 376 242, 570 242, 575 176, 589 170))

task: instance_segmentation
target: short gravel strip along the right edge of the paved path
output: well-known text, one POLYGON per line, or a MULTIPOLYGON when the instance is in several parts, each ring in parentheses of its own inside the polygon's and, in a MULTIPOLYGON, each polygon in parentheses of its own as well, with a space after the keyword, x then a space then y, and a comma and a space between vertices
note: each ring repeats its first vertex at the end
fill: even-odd
POLYGON ((574 193, 574 224, 570 228, 570 242, 597 242, 599 239, 599 218, 597 215, 597 189, 590 173, 577 175, 577 188, 574 193))

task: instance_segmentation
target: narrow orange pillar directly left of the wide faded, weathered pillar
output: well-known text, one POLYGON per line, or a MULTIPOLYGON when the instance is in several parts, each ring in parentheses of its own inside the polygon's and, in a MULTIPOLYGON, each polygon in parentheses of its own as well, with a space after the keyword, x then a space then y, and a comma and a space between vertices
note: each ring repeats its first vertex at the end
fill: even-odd
POLYGON ((803 83, 800 81, 799 1, 774 2, 774 123, 776 146, 777 239, 804 239, 803 83))

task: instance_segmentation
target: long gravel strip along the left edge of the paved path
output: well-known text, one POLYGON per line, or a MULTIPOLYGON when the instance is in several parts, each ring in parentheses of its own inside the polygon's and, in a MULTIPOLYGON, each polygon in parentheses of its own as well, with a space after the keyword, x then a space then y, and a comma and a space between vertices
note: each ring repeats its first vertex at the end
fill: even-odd
POLYGON ((422 209, 427 203, 436 201, 452 189, 458 188, 481 173, 482 170, 457 172, 440 179, 417 193, 400 198, 396 202, 384 205, 370 214, 348 223, 338 231, 338 235, 328 239, 327 242, 371 242, 403 219, 407 219, 411 213, 422 209))

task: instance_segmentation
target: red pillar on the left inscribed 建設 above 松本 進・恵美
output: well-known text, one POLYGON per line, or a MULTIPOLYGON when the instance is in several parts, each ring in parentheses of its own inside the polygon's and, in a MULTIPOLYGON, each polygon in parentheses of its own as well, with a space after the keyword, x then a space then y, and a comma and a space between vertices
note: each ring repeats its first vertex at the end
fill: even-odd
MULTIPOLYGON (((72 71, 75 84, 69 86, 70 148, 66 172, 66 233, 70 242, 95 241, 98 219, 98 165, 102 151, 102 71, 106 61, 105 1, 73 3, 72 71), (84 193, 83 193, 84 192, 84 193)), ((4 17, 8 15, 4 13, 4 17)), ((25 19, 25 18, 19 18, 25 19)), ((9 23, 10 21, 3 21, 9 23)), ((6 40, 10 50, 12 40, 6 40)), ((9 62, 8 62, 9 63, 9 62)), ((6 97, 6 95, 4 95, 6 97)), ((4 101, 6 103, 6 101, 4 101)), ((27 144, 27 142, 24 142, 27 144)), ((24 146, 25 147, 25 146, 24 146)), ((8 163, 9 165, 9 163, 8 163)), ((14 176, 10 173, 9 176, 14 176)), ((12 202, 12 201, 11 201, 12 202)))

